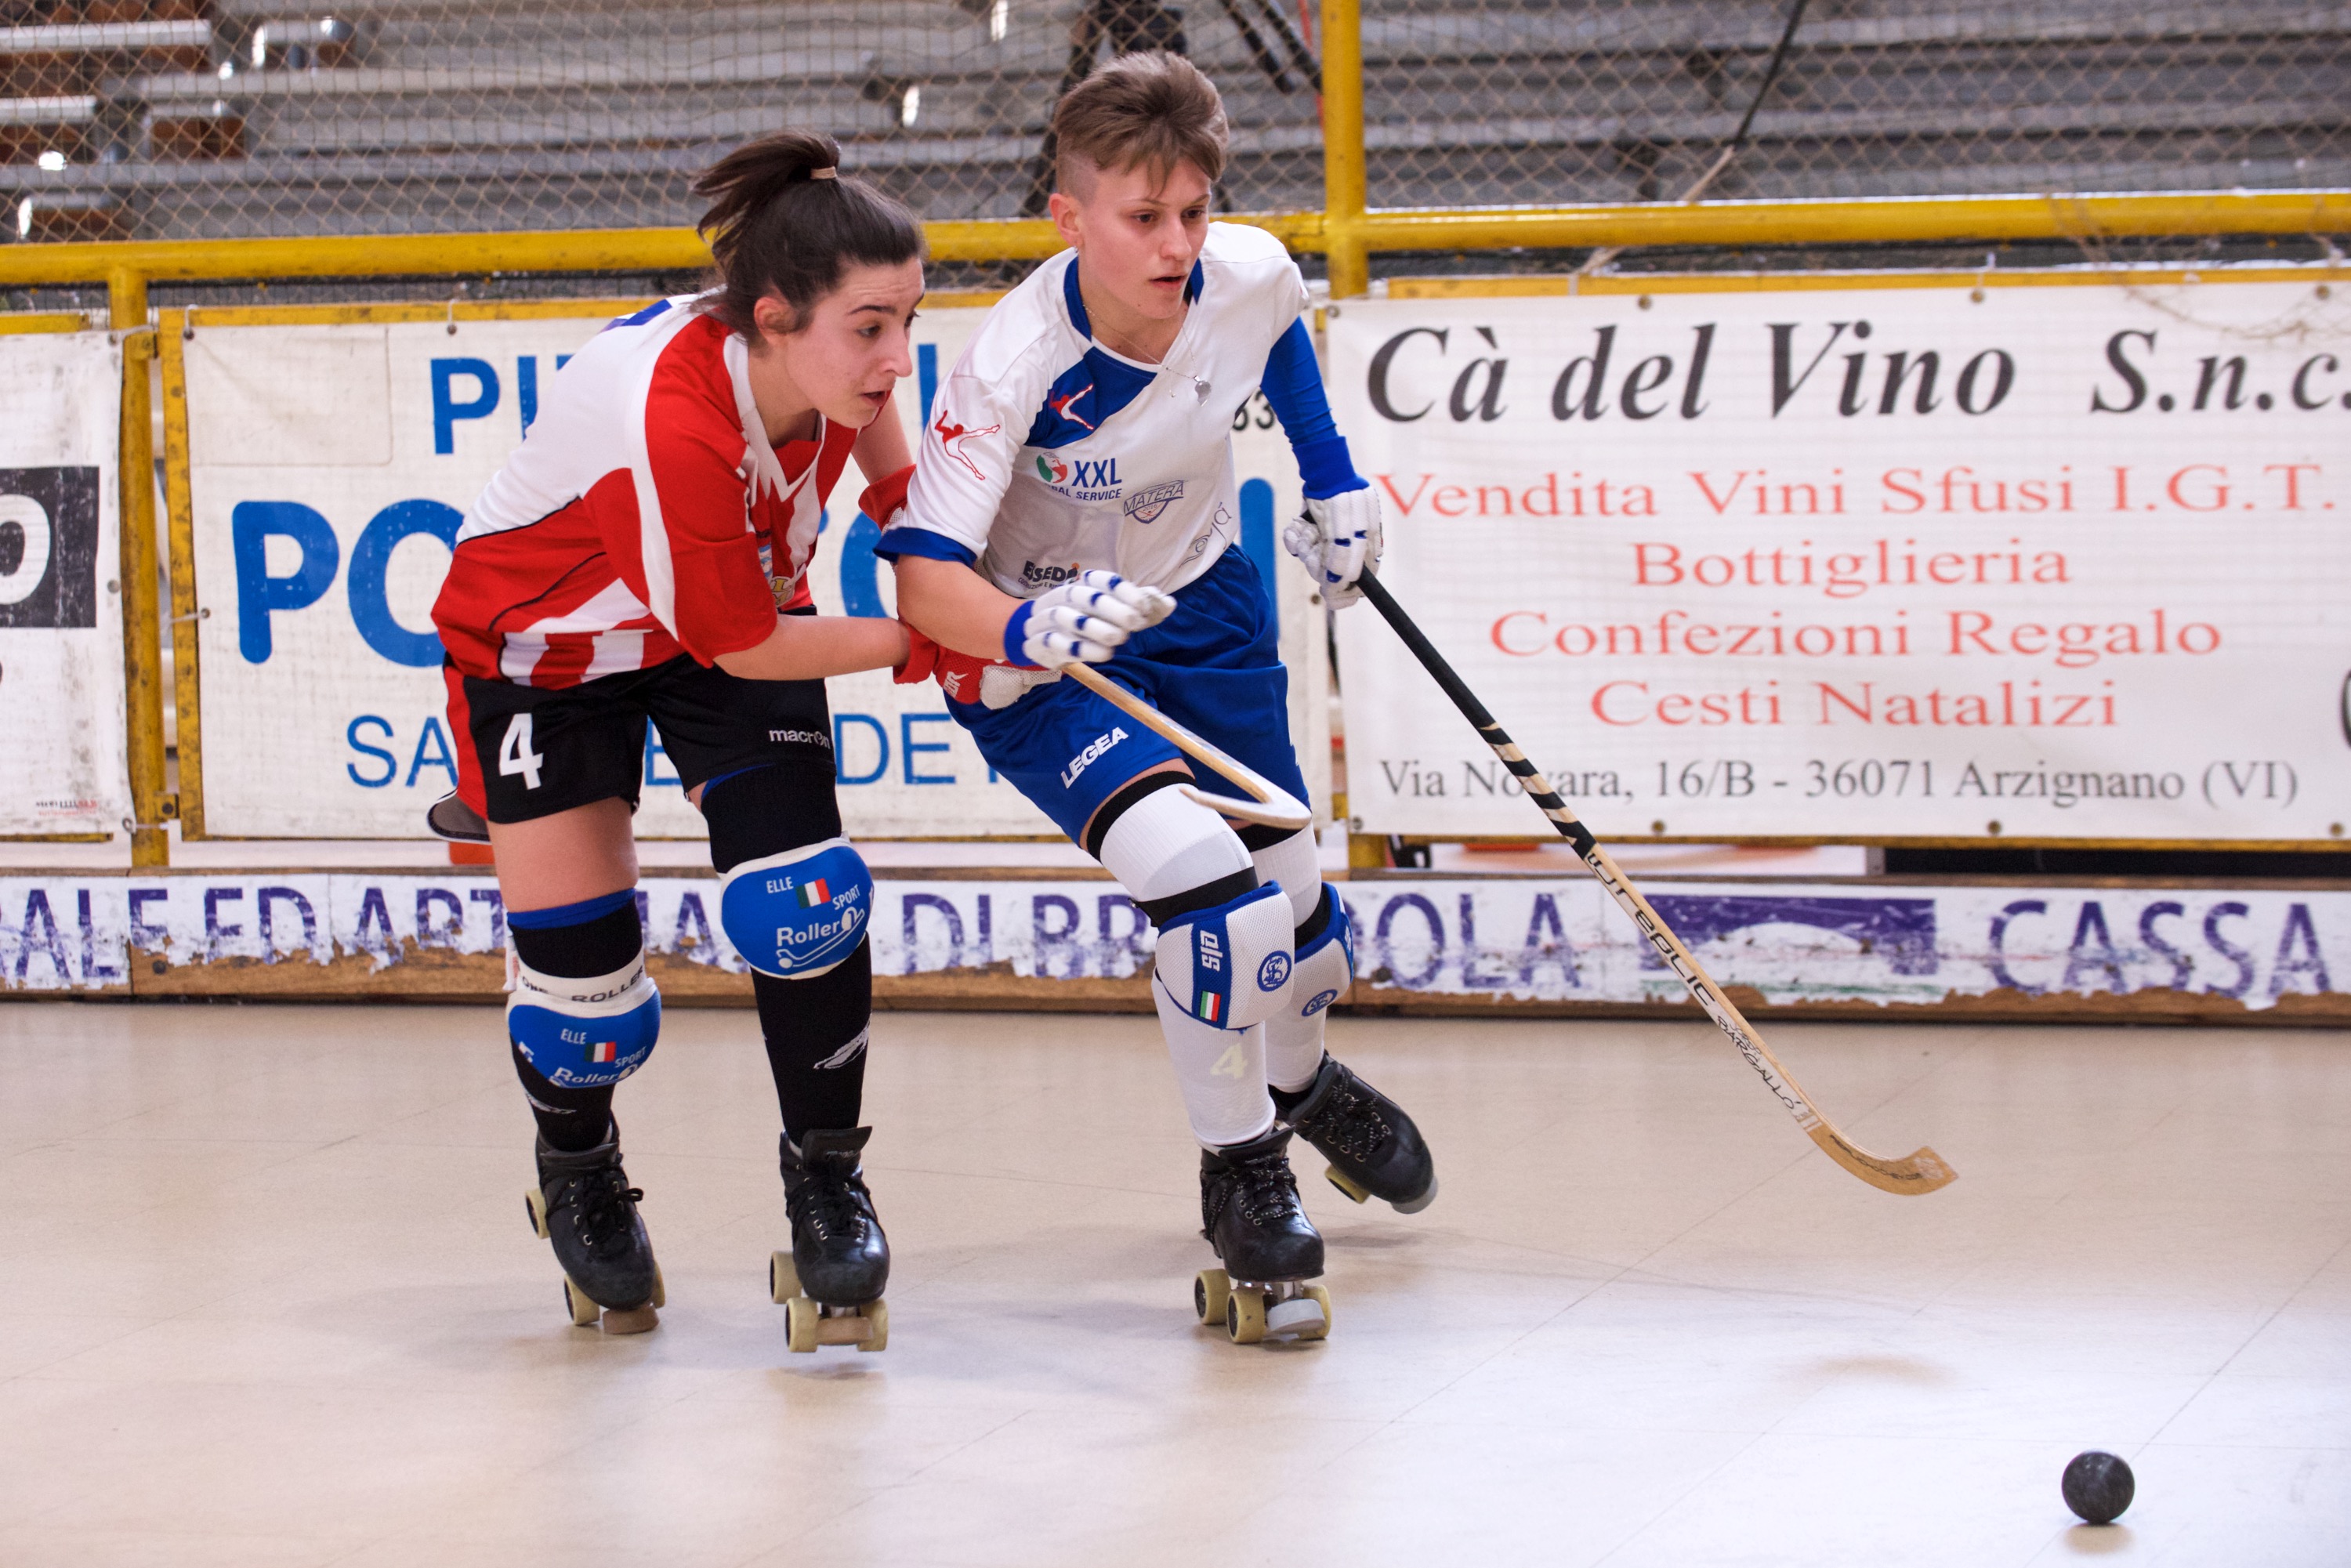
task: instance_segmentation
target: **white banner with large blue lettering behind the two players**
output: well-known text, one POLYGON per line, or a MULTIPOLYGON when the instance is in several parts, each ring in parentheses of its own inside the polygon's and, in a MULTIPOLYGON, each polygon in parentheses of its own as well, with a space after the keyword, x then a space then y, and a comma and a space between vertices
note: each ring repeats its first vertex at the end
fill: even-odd
MULTIPOLYGON (((980 315, 917 320, 917 376, 898 397, 910 433, 980 315)), ((426 837, 426 806, 456 778, 430 621, 449 541, 522 440, 541 388, 602 322, 197 322, 183 353, 195 583, 209 611, 197 623, 209 837, 426 837)), ((1244 487, 1244 522, 1270 550, 1298 475, 1279 433, 1253 430, 1244 444, 1265 468, 1244 487)), ((811 564, 825 614, 896 604, 875 527, 856 510, 863 487, 851 465, 811 564)), ((1319 654, 1305 583, 1281 576, 1293 578, 1288 651, 1319 654)), ((1319 686, 1298 686, 1293 733, 1305 738, 1319 686)), ((851 835, 1056 837, 990 776, 936 684, 898 686, 882 670, 828 689, 851 835)), ((703 837, 658 736, 637 832, 703 837)))

